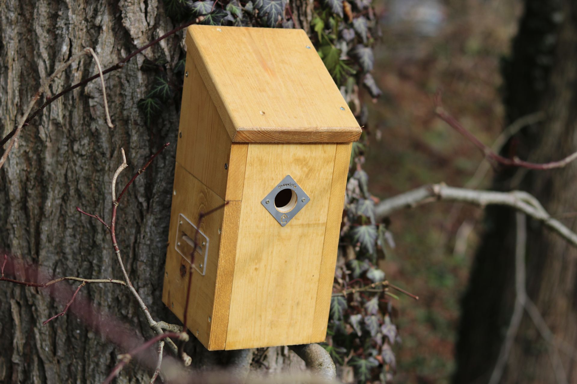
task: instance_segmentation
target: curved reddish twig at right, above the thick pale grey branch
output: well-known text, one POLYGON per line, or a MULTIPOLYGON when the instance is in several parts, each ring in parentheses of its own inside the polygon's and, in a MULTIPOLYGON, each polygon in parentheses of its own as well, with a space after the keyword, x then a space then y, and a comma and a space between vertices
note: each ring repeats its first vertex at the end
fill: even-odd
POLYGON ((520 168, 527 168, 527 169, 536 169, 536 170, 546 170, 546 169, 554 169, 554 168, 563 168, 565 165, 569 164, 570 162, 577 159, 577 152, 574 152, 567 157, 559 160, 559 161, 552 161, 544 164, 537 164, 532 163, 529 161, 524 161, 519 158, 506 158, 497 153, 495 153, 489 146, 486 146, 484 143, 481 142, 475 135, 469 132, 466 128, 464 128, 455 117, 451 116, 443 106, 441 105, 441 97, 440 93, 437 93, 435 96, 435 114, 445 123, 449 124, 455 131, 459 132, 463 135, 466 139, 468 139, 475 147, 477 147, 485 157, 492 159, 493 161, 507 165, 507 166, 516 166, 520 168))

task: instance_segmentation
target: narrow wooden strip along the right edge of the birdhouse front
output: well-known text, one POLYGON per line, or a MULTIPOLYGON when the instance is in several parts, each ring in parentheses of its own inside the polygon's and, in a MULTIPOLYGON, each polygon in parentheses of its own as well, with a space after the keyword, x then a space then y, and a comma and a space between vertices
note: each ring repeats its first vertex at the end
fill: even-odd
POLYGON ((332 173, 331 198, 329 200, 327 227, 324 234, 323 260, 319 272, 314 318, 310 325, 311 343, 320 343, 327 336, 328 314, 331 309, 332 284, 335 279, 336 256, 339 246, 340 223, 343 219, 344 191, 349 173, 351 143, 336 145, 335 166, 332 173))

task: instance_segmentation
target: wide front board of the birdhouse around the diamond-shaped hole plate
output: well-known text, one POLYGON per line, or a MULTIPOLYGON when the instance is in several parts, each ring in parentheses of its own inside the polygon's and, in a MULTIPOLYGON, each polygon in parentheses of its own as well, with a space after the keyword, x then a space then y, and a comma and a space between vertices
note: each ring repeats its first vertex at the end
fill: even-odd
POLYGON ((226 349, 310 343, 335 151, 249 144, 226 349), (281 227, 261 199, 287 174, 310 201, 281 227))

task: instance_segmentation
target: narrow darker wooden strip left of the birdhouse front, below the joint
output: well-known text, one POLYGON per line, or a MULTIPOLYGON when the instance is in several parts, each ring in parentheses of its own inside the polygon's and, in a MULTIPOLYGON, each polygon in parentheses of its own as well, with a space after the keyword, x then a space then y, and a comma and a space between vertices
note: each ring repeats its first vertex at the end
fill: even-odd
MULTIPOLYGON (((244 173, 243 173, 244 176, 244 173)), ((218 272, 212 312, 212 330, 208 349, 222 350, 226 346, 228 310, 233 289, 234 261, 237 254, 238 222, 241 216, 241 201, 228 201, 224 207, 224 221, 220 235, 218 272)))

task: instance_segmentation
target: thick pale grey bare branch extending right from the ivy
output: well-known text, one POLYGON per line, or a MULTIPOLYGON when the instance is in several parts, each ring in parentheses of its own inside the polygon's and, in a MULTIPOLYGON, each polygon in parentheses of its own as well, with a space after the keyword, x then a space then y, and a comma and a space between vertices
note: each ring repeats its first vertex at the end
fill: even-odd
POLYGON ((432 201, 461 201, 481 208, 488 205, 509 206, 539 220, 571 245, 577 246, 577 234, 544 210, 534 196, 523 191, 494 192, 448 187, 445 184, 426 185, 409 192, 382 200, 376 207, 376 216, 382 219, 403 208, 414 208, 432 201))

